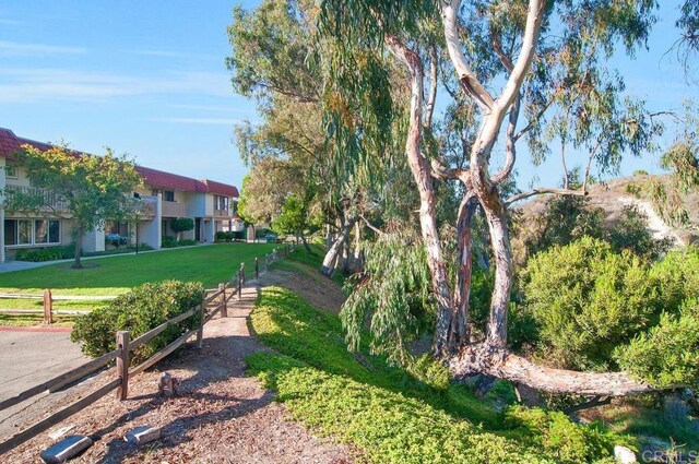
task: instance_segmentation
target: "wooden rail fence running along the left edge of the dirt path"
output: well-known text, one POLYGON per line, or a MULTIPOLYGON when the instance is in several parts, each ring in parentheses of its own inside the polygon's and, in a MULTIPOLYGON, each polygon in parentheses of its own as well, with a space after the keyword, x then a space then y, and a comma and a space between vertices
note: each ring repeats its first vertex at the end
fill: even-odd
MULTIPOLYGON (((288 255, 294 251, 294 246, 285 246, 283 251, 280 252, 277 249, 274 249, 272 253, 268 253, 264 255, 263 261, 263 272, 266 272, 270 264, 277 261, 282 255, 288 255)), ((259 277, 259 260, 256 258, 254 260, 254 276, 259 277)), ((116 378, 109 381, 108 383, 102 385, 99 389, 94 392, 87 394, 86 396, 78 400, 69 406, 63 407, 57 413, 51 414, 47 418, 34 424, 33 426, 13 435, 5 441, 0 443, 0 454, 5 453, 13 448, 24 443, 25 441, 36 437, 38 433, 47 430, 48 428, 55 426, 56 424, 64 420, 66 418, 72 416, 73 414, 82 411, 83 408, 90 406, 100 397, 105 396, 109 392, 116 390, 117 397, 120 401, 123 401, 128 396, 129 392, 129 380, 134 376, 143 372, 145 369, 152 367, 177 348, 179 348, 182 344, 185 344, 192 336, 197 336, 197 346, 201 348, 203 334, 204 334, 204 325, 206 322, 211 321, 214 316, 221 313, 223 318, 228 316, 227 305, 228 301, 237 295, 238 299, 242 296, 242 286, 245 285, 246 276, 245 276, 245 263, 240 264, 240 267, 236 275, 234 275, 227 283, 218 284, 218 287, 215 289, 206 289, 204 295, 202 296, 201 304, 196 306, 194 308, 189 309, 188 311, 163 322, 161 325, 155 329, 150 330, 149 332, 139 335, 138 337, 131 340, 131 334, 128 331, 119 331, 116 334, 117 348, 102 355, 100 357, 93 359, 82 366, 79 366, 68 372, 63 372, 46 382, 43 382, 38 385, 32 386, 15 396, 12 396, 8 400, 0 402, 0 411, 12 407, 19 403, 22 403, 33 396, 36 396, 40 393, 49 391, 52 393, 61 388, 73 383, 85 376, 93 373, 111 361, 116 360, 116 378), (141 362, 139 366, 130 367, 129 365, 129 354, 133 352, 139 346, 150 342, 155 336, 161 334, 167 328, 175 325, 185 321, 188 318, 198 318, 199 324, 197 329, 192 329, 182 335, 180 335, 177 340, 171 342, 165 348, 161 349, 158 353, 151 356, 145 361, 141 362)))

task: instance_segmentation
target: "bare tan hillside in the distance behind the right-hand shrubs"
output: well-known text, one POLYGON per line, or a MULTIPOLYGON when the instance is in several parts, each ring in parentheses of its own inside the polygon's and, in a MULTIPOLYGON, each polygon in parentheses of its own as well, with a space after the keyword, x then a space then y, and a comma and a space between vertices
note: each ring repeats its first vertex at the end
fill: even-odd
MULTIPOLYGON (((590 187, 588 199, 590 207, 600 207, 606 213, 605 223, 614 224, 621 216, 624 206, 633 204, 648 216, 648 229, 655 238, 671 237, 677 245, 688 245, 699 240, 699 228, 677 228, 665 221, 655 212, 645 191, 635 195, 629 192, 628 186, 642 187, 650 178, 659 178, 663 182, 668 181, 668 176, 635 176, 624 177, 596 183, 590 187)), ((523 218, 542 213, 548 195, 537 197, 532 201, 516 205, 522 212, 523 218)), ((685 195, 685 207, 689 212, 689 218, 695 226, 699 226, 699 193, 685 195)))

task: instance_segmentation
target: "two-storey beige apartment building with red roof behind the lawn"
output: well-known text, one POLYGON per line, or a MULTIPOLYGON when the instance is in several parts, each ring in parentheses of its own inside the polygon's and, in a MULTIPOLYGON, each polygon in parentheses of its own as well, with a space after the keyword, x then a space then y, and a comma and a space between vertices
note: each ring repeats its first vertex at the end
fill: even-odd
MULTIPOLYGON (((12 189, 42 189, 54 210, 61 211, 61 199, 51 198, 50 191, 42 186, 31 185, 26 172, 16 163, 14 153, 22 145, 29 144, 48 150, 49 144, 16 136, 11 130, 0 128, 0 195, 12 189)), ((143 213, 131 223, 108 222, 104 228, 91 230, 82 238, 84 251, 105 250, 105 235, 127 236, 134 243, 146 243, 161 248, 163 236, 175 236, 170 224, 179 217, 190 217, 194 229, 183 233, 180 238, 200 242, 213 242, 220 230, 234 228, 235 207, 238 189, 213 180, 198 180, 176 174, 164 172, 144 166, 137 166, 143 179, 143 187, 133 194, 143 202, 143 213)), ((1 198, 0 198, 1 200, 1 198)), ((57 247, 71 243, 73 230, 70 216, 36 215, 29 212, 4 211, 0 201, 0 262, 11 259, 14 252, 24 248, 57 247)))

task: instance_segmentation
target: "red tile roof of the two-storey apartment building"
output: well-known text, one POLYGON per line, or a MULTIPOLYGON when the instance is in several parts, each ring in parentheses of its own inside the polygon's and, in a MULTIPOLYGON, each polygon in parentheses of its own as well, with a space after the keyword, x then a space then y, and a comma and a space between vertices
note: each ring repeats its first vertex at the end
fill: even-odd
MULTIPOLYGON (((24 144, 34 145, 40 150, 48 150, 50 144, 16 136, 11 130, 0 128, 0 156, 14 159, 14 152, 24 144)), ((80 153, 80 152, 79 152, 80 153)), ((143 178, 143 182, 156 189, 182 190, 186 192, 213 193, 217 195, 238 197, 238 189, 227 183, 204 179, 197 180, 177 174, 137 166, 135 170, 143 178)))

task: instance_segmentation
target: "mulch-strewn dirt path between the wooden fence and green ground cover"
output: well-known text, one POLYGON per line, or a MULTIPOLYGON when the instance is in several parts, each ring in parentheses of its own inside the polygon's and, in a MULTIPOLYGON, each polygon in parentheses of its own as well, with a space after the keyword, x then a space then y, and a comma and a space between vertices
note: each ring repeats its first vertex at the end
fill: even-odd
MULTIPOLYGON (((264 281, 279 279, 271 273, 264 281)), ((245 377, 244 358, 266 349, 250 336, 247 325, 256 297, 257 289, 248 286, 240 302, 233 298, 228 318, 206 324, 202 349, 190 344, 157 365, 157 370, 137 377, 130 383, 129 400, 118 402, 108 395, 57 426, 74 425, 71 433, 95 439, 74 462, 352 462, 347 447, 316 438, 289 421, 284 406, 256 379, 245 377), (181 381, 178 395, 168 400, 155 394, 165 370, 181 381), (123 441, 128 430, 144 425, 161 427, 163 438, 142 448, 123 441)), ((36 462, 49 444, 45 432, 0 461, 36 462)))

